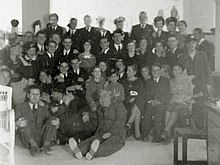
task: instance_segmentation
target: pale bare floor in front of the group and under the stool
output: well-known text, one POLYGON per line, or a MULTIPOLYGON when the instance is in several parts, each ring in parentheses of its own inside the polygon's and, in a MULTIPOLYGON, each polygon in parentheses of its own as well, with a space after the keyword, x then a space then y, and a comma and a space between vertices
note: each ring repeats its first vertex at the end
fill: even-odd
MULTIPOLYGON (((181 144, 179 143, 181 151, 181 144)), ((202 140, 188 141, 188 158, 190 160, 205 160, 206 145, 202 140)), ((173 143, 169 145, 135 141, 129 138, 122 150, 106 157, 91 161, 75 159, 68 145, 54 146, 54 155, 40 155, 33 158, 27 149, 15 147, 16 165, 172 165, 173 143)), ((181 155, 179 155, 181 157, 181 155)))

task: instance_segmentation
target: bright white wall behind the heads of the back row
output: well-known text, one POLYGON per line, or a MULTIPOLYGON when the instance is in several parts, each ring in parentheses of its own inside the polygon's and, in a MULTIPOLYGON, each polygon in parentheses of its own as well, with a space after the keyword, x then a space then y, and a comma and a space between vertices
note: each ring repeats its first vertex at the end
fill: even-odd
POLYGON ((114 19, 124 16, 125 31, 130 31, 133 24, 137 24, 140 11, 147 11, 149 23, 153 23, 159 9, 164 10, 164 17, 170 16, 172 6, 176 6, 183 17, 182 0, 50 0, 50 12, 60 17, 59 24, 66 27, 71 17, 78 19, 78 27, 83 27, 83 16, 89 14, 93 18, 93 26, 97 26, 96 18, 106 18, 105 27, 111 31, 115 29, 114 19))

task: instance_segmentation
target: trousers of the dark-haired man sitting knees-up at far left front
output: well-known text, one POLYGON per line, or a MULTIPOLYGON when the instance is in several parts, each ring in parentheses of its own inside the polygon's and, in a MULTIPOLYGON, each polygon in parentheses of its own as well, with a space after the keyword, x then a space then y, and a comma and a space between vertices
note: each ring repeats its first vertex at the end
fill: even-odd
POLYGON ((27 124, 26 127, 18 128, 21 142, 24 147, 29 148, 29 140, 34 139, 38 147, 41 147, 45 142, 56 140, 56 126, 51 124, 51 120, 44 123, 41 128, 35 128, 27 124))

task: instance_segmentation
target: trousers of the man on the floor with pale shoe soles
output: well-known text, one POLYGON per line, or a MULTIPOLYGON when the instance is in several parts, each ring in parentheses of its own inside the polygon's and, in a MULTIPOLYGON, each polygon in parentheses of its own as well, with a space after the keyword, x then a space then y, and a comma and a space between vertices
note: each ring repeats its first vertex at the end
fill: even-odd
POLYGON ((117 135, 112 135, 106 140, 103 140, 99 135, 94 135, 79 144, 79 148, 83 155, 89 152, 92 142, 96 139, 100 140, 100 145, 98 151, 94 155, 95 157, 112 155, 124 146, 124 140, 117 135))

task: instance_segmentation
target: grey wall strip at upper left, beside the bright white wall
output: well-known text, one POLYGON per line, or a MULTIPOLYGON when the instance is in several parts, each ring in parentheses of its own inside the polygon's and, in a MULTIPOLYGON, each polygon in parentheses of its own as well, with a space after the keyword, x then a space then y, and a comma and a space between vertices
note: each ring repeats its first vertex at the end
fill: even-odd
POLYGON ((22 0, 22 32, 33 31, 32 24, 41 20, 42 27, 48 22, 50 0, 22 0))

